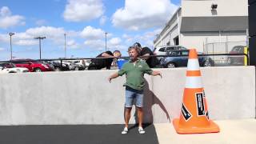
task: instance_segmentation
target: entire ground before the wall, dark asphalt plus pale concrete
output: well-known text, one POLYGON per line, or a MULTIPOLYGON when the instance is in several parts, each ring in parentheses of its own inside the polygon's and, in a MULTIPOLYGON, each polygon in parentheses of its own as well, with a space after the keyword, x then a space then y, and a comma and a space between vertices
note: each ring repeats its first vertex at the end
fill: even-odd
POLYGON ((145 125, 146 134, 130 125, 0 126, 0 144, 255 144, 256 119, 214 121, 219 133, 177 134, 172 123, 145 125))

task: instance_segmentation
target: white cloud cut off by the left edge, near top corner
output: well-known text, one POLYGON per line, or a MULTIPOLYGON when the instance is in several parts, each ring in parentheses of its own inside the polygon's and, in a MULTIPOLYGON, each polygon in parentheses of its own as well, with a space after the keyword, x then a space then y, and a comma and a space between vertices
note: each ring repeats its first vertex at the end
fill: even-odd
POLYGON ((11 26, 25 25, 24 19, 21 15, 12 15, 7 6, 2 6, 0 10, 0 28, 6 29, 11 26))

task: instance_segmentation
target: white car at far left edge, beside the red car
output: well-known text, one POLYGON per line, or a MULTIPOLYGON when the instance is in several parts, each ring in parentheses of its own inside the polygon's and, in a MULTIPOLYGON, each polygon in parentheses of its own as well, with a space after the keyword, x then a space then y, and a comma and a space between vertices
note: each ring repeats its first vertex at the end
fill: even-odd
POLYGON ((25 67, 16 67, 14 63, 2 62, 0 63, 0 74, 2 73, 26 73, 29 70, 25 67))

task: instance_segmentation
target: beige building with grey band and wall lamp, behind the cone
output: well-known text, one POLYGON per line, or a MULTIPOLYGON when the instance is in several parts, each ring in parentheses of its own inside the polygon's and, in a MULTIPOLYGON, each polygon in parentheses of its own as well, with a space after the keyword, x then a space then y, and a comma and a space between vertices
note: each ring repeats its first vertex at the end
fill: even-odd
POLYGON ((181 45, 205 51, 210 43, 246 45, 247 31, 247 0, 182 0, 154 39, 154 47, 181 45))

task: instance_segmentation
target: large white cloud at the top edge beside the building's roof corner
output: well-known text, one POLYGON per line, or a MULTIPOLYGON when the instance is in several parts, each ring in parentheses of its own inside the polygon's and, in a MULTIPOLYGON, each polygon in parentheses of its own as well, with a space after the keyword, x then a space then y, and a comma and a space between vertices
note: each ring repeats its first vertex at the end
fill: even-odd
POLYGON ((113 14, 112 23, 128 30, 163 26, 177 8, 170 0, 126 0, 125 7, 113 14))

